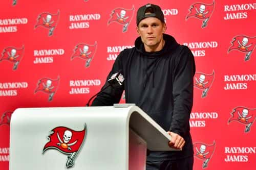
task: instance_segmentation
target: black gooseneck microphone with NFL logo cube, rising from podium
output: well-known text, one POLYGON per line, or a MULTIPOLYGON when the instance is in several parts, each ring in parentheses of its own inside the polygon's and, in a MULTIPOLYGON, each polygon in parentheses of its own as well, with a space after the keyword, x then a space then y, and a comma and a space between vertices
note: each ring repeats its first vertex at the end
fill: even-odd
POLYGON ((109 85, 104 87, 103 89, 101 89, 98 93, 96 93, 95 95, 93 95, 89 101, 87 102, 86 106, 90 106, 90 102, 91 100, 96 96, 98 95, 99 93, 101 93, 102 91, 104 91, 106 88, 108 88, 109 86, 111 86, 112 88, 118 88, 120 86, 123 85, 123 82, 124 82, 124 77, 122 75, 122 70, 119 70, 118 72, 116 72, 115 74, 113 74, 111 76, 111 78, 108 80, 109 82, 109 85))

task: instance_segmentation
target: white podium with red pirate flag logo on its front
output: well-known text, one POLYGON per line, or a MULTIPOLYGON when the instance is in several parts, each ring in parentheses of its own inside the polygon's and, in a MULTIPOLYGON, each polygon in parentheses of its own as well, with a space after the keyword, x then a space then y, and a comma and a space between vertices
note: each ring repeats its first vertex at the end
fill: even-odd
POLYGON ((144 170, 146 149, 170 136, 137 106, 19 108, 11 117, 10 170, 144 170))

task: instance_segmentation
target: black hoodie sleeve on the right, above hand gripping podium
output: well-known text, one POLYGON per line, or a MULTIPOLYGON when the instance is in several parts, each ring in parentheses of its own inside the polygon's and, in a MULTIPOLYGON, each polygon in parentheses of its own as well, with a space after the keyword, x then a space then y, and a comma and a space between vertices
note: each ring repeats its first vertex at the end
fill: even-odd
POLYGON ((174 68, 174 110, 170 127, 170 131, 182 137, 189 131, 189 116, 193 106, 193 81, 196 71, 193 54, 187 46, 183 47, 174 68))

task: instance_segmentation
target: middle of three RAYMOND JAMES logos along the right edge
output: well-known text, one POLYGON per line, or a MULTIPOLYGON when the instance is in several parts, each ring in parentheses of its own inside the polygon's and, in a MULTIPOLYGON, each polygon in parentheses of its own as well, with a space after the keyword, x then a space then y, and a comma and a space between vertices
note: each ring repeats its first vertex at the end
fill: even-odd
POLYGON ((256 75, 224 75, 224 82, 240 82, 226 83, 225 90, 243 90, 248 88, 247 82, 256 81, 256 75))

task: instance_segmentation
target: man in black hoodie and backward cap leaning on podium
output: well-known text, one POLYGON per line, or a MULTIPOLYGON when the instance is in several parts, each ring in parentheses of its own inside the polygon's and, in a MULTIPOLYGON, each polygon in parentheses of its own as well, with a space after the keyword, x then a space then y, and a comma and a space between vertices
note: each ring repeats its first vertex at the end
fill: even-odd
POLYGON ((172 136, 169 147, 182 149, 150 151, 146 169, 192 170, 189 115, 193 106, 194 56, 187 46, 165 34, 166 23, 159 6, 140 7, 136 23, 139 37, 135 47, 120 52, 92 106, 119 103, 125 90, 126 103, 135 103, 172 136), (116 76, 125 81, 113 83, 116 76))

